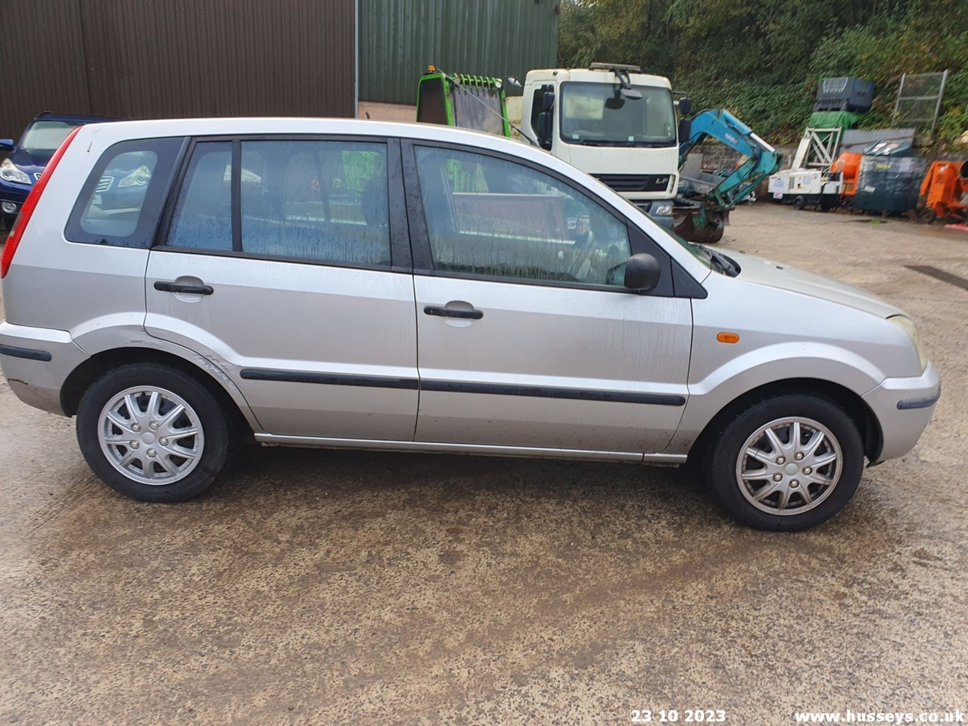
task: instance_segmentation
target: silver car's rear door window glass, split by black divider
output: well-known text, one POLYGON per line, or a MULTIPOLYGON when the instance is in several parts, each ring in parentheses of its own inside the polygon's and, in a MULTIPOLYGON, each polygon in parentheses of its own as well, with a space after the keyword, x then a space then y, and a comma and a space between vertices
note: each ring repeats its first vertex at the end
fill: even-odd
POLYGON ((196 145, 167 244, 260 257, 389 265, 386 145, 217 141, 196 145), (239 195, 233 201, 233 143, 239 195), (233 228, 232 205, 239 205, 233 228))

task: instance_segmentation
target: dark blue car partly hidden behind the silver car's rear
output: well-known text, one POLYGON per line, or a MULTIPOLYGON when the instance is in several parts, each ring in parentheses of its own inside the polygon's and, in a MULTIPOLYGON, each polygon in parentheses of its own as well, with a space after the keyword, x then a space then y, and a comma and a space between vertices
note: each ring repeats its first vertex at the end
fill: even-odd
POLYGON ((0 152, 10 152, 0 162, 0 216, 4 226, 14 227, 17 212, 27 194, 41 178, 60 142, 74 127, 116 120, 110 116, 45 111, 30 122, 19 143, 13 138, 0 138, 0 152))

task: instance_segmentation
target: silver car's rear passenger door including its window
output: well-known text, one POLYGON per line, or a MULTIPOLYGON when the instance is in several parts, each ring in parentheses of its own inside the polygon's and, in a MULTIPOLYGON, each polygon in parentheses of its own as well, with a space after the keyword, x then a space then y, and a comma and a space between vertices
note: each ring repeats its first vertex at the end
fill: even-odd
POLYGON ((399 141, 198 140, 182 176, 148 258, 148 332, 222 369, 269 434, 411 440, 399 141))

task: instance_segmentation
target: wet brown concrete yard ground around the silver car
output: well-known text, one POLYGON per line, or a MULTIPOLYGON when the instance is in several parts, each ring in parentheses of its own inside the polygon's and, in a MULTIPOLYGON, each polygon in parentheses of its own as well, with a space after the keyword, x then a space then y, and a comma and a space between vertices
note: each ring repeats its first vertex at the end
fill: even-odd
POLYGON ((909 268, 968 279, 968 234, 761 203, 720 247, 885 297, 941 372, 831 522, 745 529, 679 469, 282 448, 139 503, 4 381, 0 724, 968 711, 968 290, 909 268))

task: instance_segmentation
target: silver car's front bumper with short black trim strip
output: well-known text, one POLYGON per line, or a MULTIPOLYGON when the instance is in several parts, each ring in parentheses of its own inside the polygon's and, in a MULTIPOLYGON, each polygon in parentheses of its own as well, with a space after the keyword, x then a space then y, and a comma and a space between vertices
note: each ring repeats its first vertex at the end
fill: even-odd
POLYGON ((896 459, 914 448, 940 395, 941 378, 931 363, 921 376, 885 378, 863 395, 881 426, 883 439, 880 456, 873 464, 896 459))

